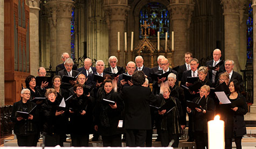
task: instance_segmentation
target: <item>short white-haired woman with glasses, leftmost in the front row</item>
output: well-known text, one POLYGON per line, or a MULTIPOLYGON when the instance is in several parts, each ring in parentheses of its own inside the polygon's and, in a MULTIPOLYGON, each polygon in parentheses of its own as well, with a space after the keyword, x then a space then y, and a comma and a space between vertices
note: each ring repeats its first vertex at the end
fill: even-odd
POLYGON ((13 104, 11 120, 14 123, 14 133, 17 136, 18 146, 36 146, 37 144, 37 120, 38 111, 36 103, 31 102, 30 90, 25 88, 22 90, 20 96, 22 100, 13 104), (33 109, 33 111, 31 111, 33 109), (29 113, 29 117, 17 117, 16 111, 23 111, 29 113))

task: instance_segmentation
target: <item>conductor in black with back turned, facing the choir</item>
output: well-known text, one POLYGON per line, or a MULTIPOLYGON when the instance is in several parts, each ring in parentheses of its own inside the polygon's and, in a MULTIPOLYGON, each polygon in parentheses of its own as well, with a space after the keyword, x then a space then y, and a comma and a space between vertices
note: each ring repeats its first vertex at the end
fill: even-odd
POLYGON ((156 96, 150 88, 142 86, 146 77, 142 71, 134 72, 132 86, 123 87, 121 99, 124 101, 124 128, 126 146, 144 147, 147 130, 151 129, 150 107, 156 96))

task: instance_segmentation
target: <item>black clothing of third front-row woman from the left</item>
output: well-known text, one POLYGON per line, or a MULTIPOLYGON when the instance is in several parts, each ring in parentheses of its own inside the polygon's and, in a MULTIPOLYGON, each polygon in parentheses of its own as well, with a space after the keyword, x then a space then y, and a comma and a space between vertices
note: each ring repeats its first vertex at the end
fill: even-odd
POLYGON ((68 107, 74 111, 70 113, 69 130, 72 139, 72 146, 88 146, 89 134, 93 130, 92 101, 90 98, 82 94, 76 94, 68 100, 68 107), (81 115, 81 111, 85 110, 85 115, 81 115))

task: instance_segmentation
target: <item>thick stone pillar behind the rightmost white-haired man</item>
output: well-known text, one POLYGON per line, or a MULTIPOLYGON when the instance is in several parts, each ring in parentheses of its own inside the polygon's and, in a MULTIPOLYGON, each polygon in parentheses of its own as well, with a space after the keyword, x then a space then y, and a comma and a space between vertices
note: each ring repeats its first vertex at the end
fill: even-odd
POLYGON ((240 14, 239 6, 241 1, 222 0, 224 9, 224 27, 225 27, 225 59, 231 59, 235 62, 234 71, 239 72, 238 54, 240 49, 240 14))

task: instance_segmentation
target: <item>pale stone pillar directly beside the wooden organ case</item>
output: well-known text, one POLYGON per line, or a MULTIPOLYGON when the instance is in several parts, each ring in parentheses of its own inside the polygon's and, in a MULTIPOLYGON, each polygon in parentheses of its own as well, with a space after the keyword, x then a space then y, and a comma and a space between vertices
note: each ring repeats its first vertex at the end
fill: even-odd
POLYGON ((40 0, 29 0, 29 26, 30 26, 30 74, 37 76, 39 68, 39 4, 40 0))

